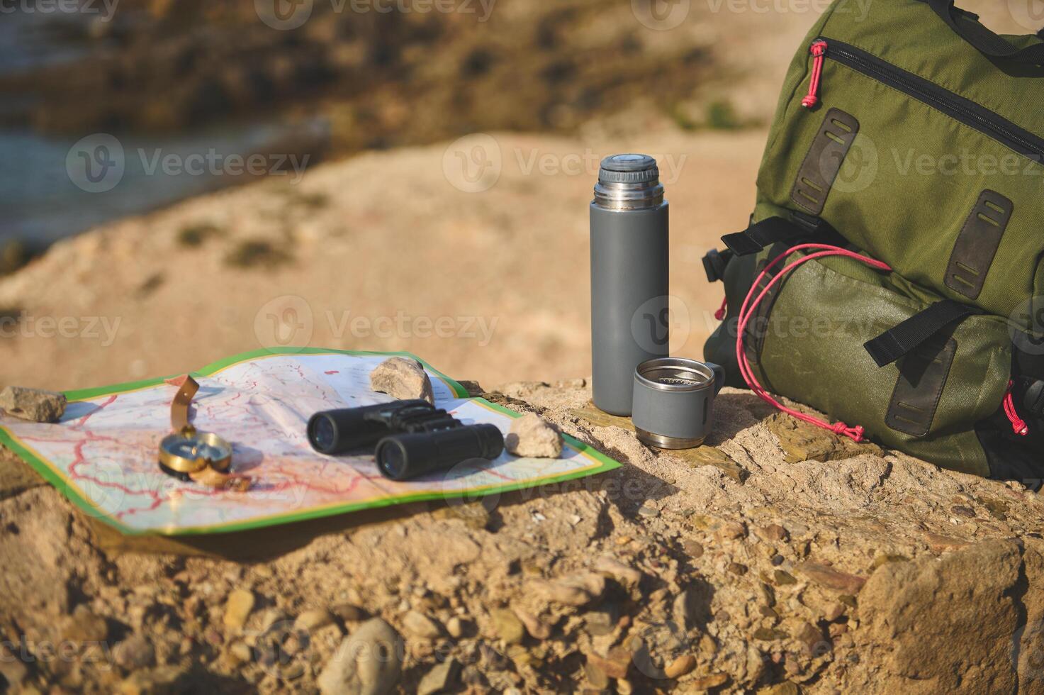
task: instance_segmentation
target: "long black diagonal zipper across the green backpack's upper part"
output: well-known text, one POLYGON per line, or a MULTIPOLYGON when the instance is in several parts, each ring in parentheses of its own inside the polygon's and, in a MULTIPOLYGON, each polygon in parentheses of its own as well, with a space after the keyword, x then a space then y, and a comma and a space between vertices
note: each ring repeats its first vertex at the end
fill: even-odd
MULTIPOLYGON (((974 128, 1015 152, 1037 162, 1044 162, 1044 138, 1016 125, 971 99, 954 94, 939 85, 882 61, 873 53, 834 39, 820 38, 812 42, 826 44, 823 53, 853 70, 894 87, 918 101, 974 128)), ((814 54, 814 49, 813 49, 814 54)))

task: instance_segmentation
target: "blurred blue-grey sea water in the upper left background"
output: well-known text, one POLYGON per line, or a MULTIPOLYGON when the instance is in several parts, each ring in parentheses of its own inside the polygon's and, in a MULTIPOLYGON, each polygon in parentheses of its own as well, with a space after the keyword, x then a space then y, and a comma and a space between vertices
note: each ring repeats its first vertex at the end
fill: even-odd
MULTIPOLYGON (((74 38, 81 32, 62 23, 84 20, 0 11, 0 75, 74 63, 89 47, 74 38)), ((0 95, 0 108, 13 98, 18 95, 0 95)), ((0 245, 21 239, 42 248, 112 219, 254 180, 246 170, 252 156, 253 172, 281 167, 288 173, 279 176, 293 180, 295 168, 322 154, 325 128, 312 119, 227 123, 176 135, 76 137, 0 128, 0 245), (307 160, 302 143, 306 153, 307 143, 315 149, 307 160)))

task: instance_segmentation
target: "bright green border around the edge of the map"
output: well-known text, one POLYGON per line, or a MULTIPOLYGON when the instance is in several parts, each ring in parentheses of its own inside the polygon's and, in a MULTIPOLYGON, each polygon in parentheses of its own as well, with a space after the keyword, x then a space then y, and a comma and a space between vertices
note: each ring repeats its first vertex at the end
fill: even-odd
MULTIPOLYGON (((411 357, 420 362, 424 367, 435 374, 440 379, 446 383, 450 390, 458 398, 470 398, 468 391, 460 386, 456 380, 446 376, 437 369, 429 365, 424 360, 421 360, 411 352, 399 351, 399 352, 378 352, 370 350, 338 350, 334 348, 313 348, 313 347, 274 347, 274 348, 261 348, 258 350, 251 350, 248 352, 241 352, 239 354, 219 360, 210 365, 207 365, 203 369, 191 372, 193 376, 210 376, 216 372, 219 372, 229 367, 235 366, 237 364, 247 362, 250 360, 255 360, 258 357, 268 357, 283 354, 348 354, 355 356, 365 356, 365 355, 377 355, 377 356, 405 356, 411 357)), ((113 386, 98 387, 94 389, 79 389, 74 391, 66 391, 66 398, 70 402, 91 400, 94 398, 100 398, 103 396, 109 396, 118 393, 126 393, 128 391, 138 391, 141 389, 147 389, 155 386, 160 386, 165 381, 181 376, 181 374, 173 374, 170 376, 161 376, 150 379, 142 379, 139 381, 126 381, 123 384, 116 384, 113 386)), ((513 410, 499 406, 497 403, 490 402, 484 398, 470 398, 471 400, 478 402, 490 410, 503 413, 509 417, 522 417, 521 413, 516 413, 513 410)), ((588 476, 594 476, 597 473, 606 472, 620 467, 620 463, 609 458, 601 451, 592 448, 591 446, 580 442, 579 440, 570 437, 569 435, 563 435, 566 443, 582 456, 586 456, 595 462, 595 466, 592 468, 585 468, 583 470, 573 470, 561 476, 549 476, 547 478, 540 478, 529 481, 521 481, 518 483, 511 483, 507 485, 491 485, 488 487, 476 488, 473 490, 467 490, 459 494, 446 494, 444 492, 418 492, 414 494, 405 494, 394 497, 385 497, 382 500, 361 502, 361 503, 346 503, 346 504, 333 504, 327 507, 321 507, 315 509, 310 509, 301 512, 285 512, 282 514, 275 514, 272 516, 265 516, 262 518, 256 518, 245 522, 230 522, 228 524, 214 524, 211 526, 201 527, 187 527, 180 529, 134 529, 127 527, 126 525, 118 522, 117 519, 110 516, 108 513, 101 511, 97 506, 92 504, 89 500, 82 496, 76 487, 68 481, 68 479, 56 468, 50 465, 47 461, 39 458, 35 454, 25 447, 6 427, 0 425, 0 443, 13 450, 19 456, 23 461, 32 466, 32 468, 39 472, 48 483, 54 486, 60 492, 62 492, 68 500, 70 500, 74 505, 76 505, 81 511, 87 513, 93 518, 100 519, 112 526, 120 533, 128 536, 194 536, 194 535, 205 535, 205 534, 218 534, 218 533, 234 533, 236 531, 250 531, 254 529, 262 529, 270 526, 278 526, 282 524, 292 524, 295 522, 305 522, 309 519, 323 518, 327 516, 335 516, 338 514, 347 514, 354 511, 361 511, 363 509, 379 509, 383 507, 392 507, 395 505, 407 504, 411 502, 431 502, 437 500, 455 500, 460 497, 467 499, 477 499, 487 494, 498 494, 503 492, 513 492, 516 490, 528 489, 533 487, 540 487, 542 485, 547 485, 550 483, 562 483, 570 480, 575 480, 578 478, 586 478, 588 476)))

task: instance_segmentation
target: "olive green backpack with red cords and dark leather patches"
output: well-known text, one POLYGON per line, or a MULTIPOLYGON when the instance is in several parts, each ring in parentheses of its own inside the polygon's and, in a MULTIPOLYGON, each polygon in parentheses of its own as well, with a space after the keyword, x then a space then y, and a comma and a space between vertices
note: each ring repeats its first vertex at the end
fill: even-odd
POLYGON ((705 354, 730 386, 947 468, 1044 474, 1042 65, 1040 39, 952 0, 830 6, 751 226, 704 258, 727 297, 705 354))

